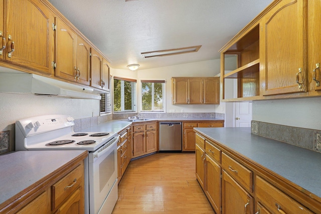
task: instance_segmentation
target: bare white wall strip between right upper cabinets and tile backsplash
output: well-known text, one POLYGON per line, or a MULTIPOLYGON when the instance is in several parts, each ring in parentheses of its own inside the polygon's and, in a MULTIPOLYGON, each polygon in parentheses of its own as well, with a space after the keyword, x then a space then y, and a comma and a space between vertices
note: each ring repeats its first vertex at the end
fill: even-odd
POLYGON ((321 130, 321 97, 253 101, 253 120, 321 130))

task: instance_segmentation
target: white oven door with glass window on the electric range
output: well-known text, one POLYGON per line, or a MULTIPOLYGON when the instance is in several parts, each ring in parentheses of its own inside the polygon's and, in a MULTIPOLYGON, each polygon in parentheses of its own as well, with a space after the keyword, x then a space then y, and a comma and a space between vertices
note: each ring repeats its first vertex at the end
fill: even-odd
POLYGON ((98 213, 103 203, 111 204, 112 202, 112 210, 117 201, 117 184, 114 184, 117 183, 118 139, 119 136, 88 154, 89 209, 91 214, 98 213), (109 194, 112 187, 116 194, 109 194))

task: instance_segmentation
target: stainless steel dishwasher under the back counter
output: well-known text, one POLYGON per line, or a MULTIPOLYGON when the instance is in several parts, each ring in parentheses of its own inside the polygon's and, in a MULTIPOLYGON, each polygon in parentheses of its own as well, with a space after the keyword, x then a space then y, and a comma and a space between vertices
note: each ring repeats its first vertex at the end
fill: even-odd
POLYGON ((182 122, 159 122, 159 152, 182 151, 182 122))

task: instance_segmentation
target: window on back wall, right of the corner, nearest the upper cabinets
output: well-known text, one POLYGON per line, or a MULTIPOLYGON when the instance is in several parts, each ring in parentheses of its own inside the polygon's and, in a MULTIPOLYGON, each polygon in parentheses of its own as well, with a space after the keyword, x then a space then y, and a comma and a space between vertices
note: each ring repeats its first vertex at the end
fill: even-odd
POLYGON ((165 80, 141 80, 141 112, 165 112, 165 80))

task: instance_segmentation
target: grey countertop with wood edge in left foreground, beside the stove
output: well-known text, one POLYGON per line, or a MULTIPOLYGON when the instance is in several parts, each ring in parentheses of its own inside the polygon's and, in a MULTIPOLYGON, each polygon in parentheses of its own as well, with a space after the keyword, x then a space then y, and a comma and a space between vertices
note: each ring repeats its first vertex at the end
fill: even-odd
POLYGON ((68 150, 17 151, 1 155, 0 210, 6 205, 5 201, 20 201, 26 192, 51 180, 75 159, 84 159, 87 154, 87 151, 68 150))

